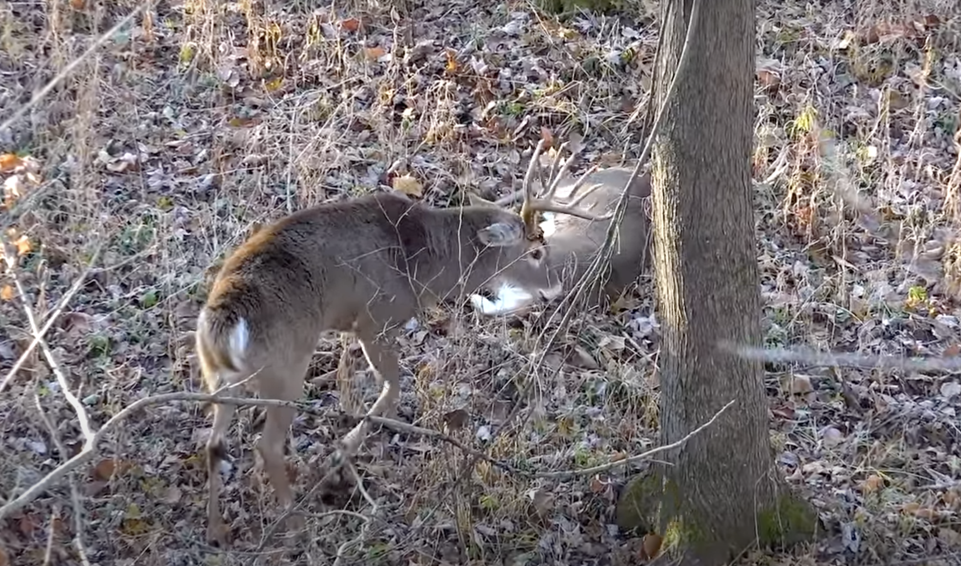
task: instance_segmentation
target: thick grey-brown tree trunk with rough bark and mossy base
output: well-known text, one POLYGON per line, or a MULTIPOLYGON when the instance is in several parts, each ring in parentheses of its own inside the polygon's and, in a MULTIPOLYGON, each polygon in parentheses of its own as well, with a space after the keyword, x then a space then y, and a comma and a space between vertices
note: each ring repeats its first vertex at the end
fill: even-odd
MULTIPOLYGON (((718 347, 761 343, 750 165, 754 2, 699 1, 689 59, 653 146, 662 443, 736 402, 673 465, 628 485, 622 507, 666 535, 670 556, 722 564, 758 539, 809 534, 815 517, 774 465, 763 367, 718 347)), ((678 67, 692 4, 661 4, 653 106, 678 67)))

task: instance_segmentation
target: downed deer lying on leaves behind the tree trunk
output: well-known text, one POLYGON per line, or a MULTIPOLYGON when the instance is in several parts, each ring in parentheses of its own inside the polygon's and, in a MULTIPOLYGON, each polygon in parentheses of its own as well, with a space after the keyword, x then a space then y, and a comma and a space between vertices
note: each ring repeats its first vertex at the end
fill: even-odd
MULTIPOLYGON (((588 271, 594 258, 604 246, 607 227, 613 222, 613 211, 617 201, 628 184, 632 170, 625 167, 611 167, 589 169, 580 177, 568 175, 568 170, 576 155, 571 155, 557 171, 560 153, 567 144, 560 147, 554 155, 554 160, 545 178, 540 167, 539 151, 535 152, 530 161, 528 177, 534 177, 533 168, 537 169, 536 177, 540 179, 542 195, 537 198, 551 200, 573 201, 581 210, 600 212, 597 219, 587 219, 584 216, 554 215, 539 223, 544 233, 548 252, 540 269, 545 271, 543 277, 546 283, 540 282, 533 287, 523 284, 503 284, 497 291, 499 300, 489 301, 480 295, 472 295, 474 307, 485 315, 503 314, 508 311, 519 311, 530 305, 539 289, 550 288, 552 295, 560 295, 563 290, 573 290, 580 277, 588 271), (588 188, 578 197, 583 187, 588 188), (603 222, 599 222, 603 221, 603 222)), ((542 146, 538 146, 538 150, 542 146)), ((525 190, 530 191, 530 182, 525 190)), ((494 204, 505 206, 511 204, 524 190, 517 191, 494 204)), ((608 300, 614 300, 625 293, 637 278, 647 271, 651 263, 651 222, 648 217, 645 200, 651 196, 651 175, 638 175, 630 184, 628 191, 628 206, 624 219, 618 230, 618 239, 611 249, 609 271, 602 266, 601 279, 587 287, 586 297, 589 305, 599 302, 601 295, 608 300)), ((547 215, 545 215, 547 216, 547 215)), ((533 281, 533 277, 527 278, 533 281)), ((541 294, 542 297, 544 294, 541 294)))

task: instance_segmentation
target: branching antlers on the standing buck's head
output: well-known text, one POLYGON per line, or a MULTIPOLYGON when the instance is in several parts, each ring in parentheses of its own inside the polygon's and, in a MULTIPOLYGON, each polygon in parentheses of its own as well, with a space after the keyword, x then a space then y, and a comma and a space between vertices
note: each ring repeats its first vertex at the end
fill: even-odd
MULTIPOLYGON (((584 200, 585 197, 602 186, 601 183, 594 184, 578 196, 578 192, 580 191, 580 188, 583 186, 584 182, 587 180, 587 177, 597 171, 598 168, 596 165, 591 167, 586 173, 578 178, 578 180, 574 183, 574 187, 571 189, 570 195, 566 199, 557 200, 554 198, 554 193, 557 192, 557 188, 560 186, 561 178, 564 177, 564 175, 570 170, 571 165, 574 163, 574 159, 577 156, 576 153, 572 153, 571 156, 564 161, 564 164, 560 167, 560 170, 556 171, 557 163, 560 161, 560 153, 567 148, 567 143, 562 144, 560 146, 560 151, 554 155, 554 161, 551 163, 551 169, 548 177, 548 180, 551 182, 551 184, 547 191, 541 196, 534 195, 532 181, 535 172, 540 180, 541 186, 543 187, 546 184, 543 177, 543 170, 540 167, 540 154, 544 151, 544 145, 544 139, 541 139, 539 142, 537 142, 537 147, 534 149, 534 153, 530 157, 527 175, 524 176, 524 204, 521 206, 521 218, 523 218, 524 223, 527 224, 528 232, 530 234, 539 234, 539 228, 537 226, 538 212, 569 214, 584 220, 606 220, 611 218, 613 216, 612 212, 608 212, 607 214, 594 214, 578 206, 581 200, 584 200)), ((512 195, 510 200, 513 200, 515 196, 516 195, 512 195)), ((498 200, 498 202, 500 203, 501 200, 498 200)))

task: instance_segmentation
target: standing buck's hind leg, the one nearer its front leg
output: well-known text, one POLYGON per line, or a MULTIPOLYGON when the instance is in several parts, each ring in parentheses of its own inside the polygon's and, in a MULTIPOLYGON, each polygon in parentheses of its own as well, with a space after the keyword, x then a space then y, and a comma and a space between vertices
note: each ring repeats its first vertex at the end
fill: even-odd
MULTIPOLYGON (((271 370, 261 373, 259 392, 262 398, 296 401, 304 390, 304 376, 310 359, 283 368, 281 372, 271 370)), ((284 465, 283 449, 286 446, 287 432, 294 420, 296 410, 292 407, 268 407, 263 423, 263 431, 257 443, 260 460, 263 460, 267 479, 274 488, 278 502, 284 509, 293 504, 293 490, 284 465)), ((302 524, 299 516, 291 516, 288 527, 298 528, 302 524)))

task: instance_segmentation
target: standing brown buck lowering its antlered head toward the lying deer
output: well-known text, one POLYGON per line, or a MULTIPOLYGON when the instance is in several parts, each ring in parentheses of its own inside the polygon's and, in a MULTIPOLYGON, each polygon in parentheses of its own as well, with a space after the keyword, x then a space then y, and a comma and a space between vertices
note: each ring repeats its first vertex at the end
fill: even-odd
MULTIPOLYGON (((382 192, 260 226, 224 261, 197 320, 205 385, 214 391, 250 379, 262 397, 295 400, 320 335, 351 331, 382 384, 367 414, 393 413, 400 388, 396 329, 423 308, 481 286, 543 287, 538 278, 548 250, 537 213, 599 218, 576 205, 528 191, 517 214, 483 205, 431 208, 382 192)), ((207 442, 210 542, 222 542, 218 468, 235 410, 213 404, 207 442)), ((268 407, 257 444, 283 506, 293 502, 283 452, 294 412, 268 407)), ((362 443, 367 422, 342 438, 348 454, 362 443)))

